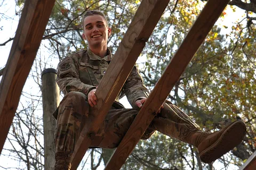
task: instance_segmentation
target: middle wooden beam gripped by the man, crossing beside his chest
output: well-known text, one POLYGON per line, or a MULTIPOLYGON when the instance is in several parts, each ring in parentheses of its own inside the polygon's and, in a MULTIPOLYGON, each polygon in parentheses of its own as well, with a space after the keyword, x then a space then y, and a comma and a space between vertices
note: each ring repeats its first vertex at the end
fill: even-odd
POLYGON ((141 2, 95 93, 98 98, 98 104, 90 112, 89 117, 91 118, 90 122, 93 123, 85 125, 86 127, 77 140, 75 151, 71 155, 71 169, 78 167, 86 150, 91 145, 91 141, 95 135, 98 135, 97 132, 100 124, 103 123, 108 110, 121 90, 169 1, 143 0, 141 2))

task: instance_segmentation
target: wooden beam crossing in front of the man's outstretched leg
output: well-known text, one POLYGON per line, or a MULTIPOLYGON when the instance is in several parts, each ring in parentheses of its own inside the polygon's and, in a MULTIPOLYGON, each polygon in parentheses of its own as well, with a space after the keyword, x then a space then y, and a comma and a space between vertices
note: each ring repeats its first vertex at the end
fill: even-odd
POLYGON ((205 37, 212 29, 214 23, 228 4, 229 0, 209 0, 199 14, 193 27, 183 40, 177 53, 166 67, 162 77, 156 83, 145 104, 141 108, 135 120, 126 132, 123 140, 115 150, 105 169, 120 169, 125 160, 135 148, 143 133, 148 128, 157 113, 170 94, 175 83, 179 80, 183 71, 203 43, 205 37))

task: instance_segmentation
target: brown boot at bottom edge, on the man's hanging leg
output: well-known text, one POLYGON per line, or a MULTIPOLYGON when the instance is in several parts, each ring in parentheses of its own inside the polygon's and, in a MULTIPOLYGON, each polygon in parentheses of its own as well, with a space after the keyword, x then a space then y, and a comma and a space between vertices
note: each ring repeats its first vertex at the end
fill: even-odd
POLYGON ((55 154, 54 170, 69 170, 71 169, 70 154, 64 151, 59 151, 55 154))

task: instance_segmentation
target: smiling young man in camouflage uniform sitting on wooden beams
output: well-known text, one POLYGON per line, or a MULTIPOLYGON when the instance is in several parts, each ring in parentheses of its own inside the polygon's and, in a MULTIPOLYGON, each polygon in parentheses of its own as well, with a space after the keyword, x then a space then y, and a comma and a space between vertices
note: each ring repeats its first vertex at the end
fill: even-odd
MULTIPOLYGON (((111 52, 107 48, 111 29, 105 15, 99 11, 87 11, 83 17, 83 30, 83 39, 87 40, 89 48, 66 57, 58 65, 57 83, 65 97, 54 114, 57 118, 55 169, 70 168, 70 155, 79 133, 89 121, 90 106, 97 105, 95 91, 111 61, 111 52)), ((126 109, 115 101, 91 147, 117 147, 138 108, 145 103, 149 91, 136 67, 133 67, 122 91, 133 109, 126 109)), ((148 139, 156 130, 194 145, 202 161, 211 163, 242 141, 246 126, 238 120, 221 131, 205 133, 178 107, 166 101, 142 139, 148 139)))

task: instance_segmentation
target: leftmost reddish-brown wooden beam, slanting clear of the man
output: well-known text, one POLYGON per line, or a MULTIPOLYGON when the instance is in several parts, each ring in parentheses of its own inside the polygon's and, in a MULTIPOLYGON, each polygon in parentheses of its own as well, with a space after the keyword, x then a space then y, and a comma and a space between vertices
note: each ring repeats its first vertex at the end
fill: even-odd
POLYGON ((0 84, 0 152, 34 62, 54 0, 26 0, 0 84))

